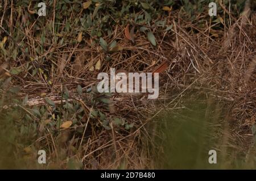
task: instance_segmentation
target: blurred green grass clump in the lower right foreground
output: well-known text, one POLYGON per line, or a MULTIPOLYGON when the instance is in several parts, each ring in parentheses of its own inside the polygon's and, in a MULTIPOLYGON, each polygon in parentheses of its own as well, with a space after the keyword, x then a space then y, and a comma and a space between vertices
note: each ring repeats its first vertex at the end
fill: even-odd
POLYGON ((232 147, 224 128, 224 122, 229 124, 227 113, 220 104, 209 106, 207 101, 164 113, 155 122, 156 169, 255 169, 255 154, 242 155, 232 147), (209 150, 217 151, 216 164, 208 162, 209 150))

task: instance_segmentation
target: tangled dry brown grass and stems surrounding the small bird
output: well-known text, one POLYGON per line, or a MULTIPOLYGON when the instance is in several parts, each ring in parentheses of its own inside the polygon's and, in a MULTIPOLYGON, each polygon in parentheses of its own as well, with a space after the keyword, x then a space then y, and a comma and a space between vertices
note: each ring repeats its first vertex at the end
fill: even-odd
MULTIPOLYGON (((3 12, 2 17, 6 17, 6 13, 3 12)), ((9 67, 23 71, 18 75, 10 75, 10 69, 5 68, 7 73, 4 78, 9 75, 13 78, 7 87, 22 87, 19 94, 15 95, 16 99, 24 99, 28 94, 27 105, 20 106, 26 113, 31 113, 31 107, 40 108, 43 105, 49 112, 46 117, 35 119, 38 121, 38 134, 29 145, 25 145, 32 150, 47 150, 49 158, 45 168, 67 169, 71 160, 75 166, 78 165, 82 169, 154 168, 154 161, 148 149, 152 146, 152 127, 147 127, 147 123, 162 115, 164 111, 181 109, 184 106, 183 96, 190 95, 191 92, 203 92, 206 97, 212 96, 221 100, 228 107, 225 118, 218 120, 222 127, 217 135, 220 142, 216 148, 222 150, 224 155, 234 154, 234 157, 236 153, 230 153, 229 148, 236 148, 237 153, 249 153, 253 143, 251 127, 254 126, 256 117, 256 15, 252 11, 247 16, 249 22, 245 24, 244 17, 233 19, 233 16, 230 16, 228 19, 224 18, 226 22, 216 23, 209 20, 208 14, 200 14, 197 18, 205 19, 205 22, 203 27, 199 27, 195 22, 182 18, 185 16, 183 13, 173 10, 169 14, 159 16, 158 20, 166 19, 167 25, 173 25, 170 31, 164 31, 152 23, 151 31, 158 42, 156 47, 139 31, 140 26, 135 26, 135 44, 132 44, 125 38, 125 26, 115 24, 112 27, 112 35, 105 35, 104 39, 108 43, 117 41, 122 50, 106 53, 98 43, 92 45, 94 37, 86 33, 81 43, 76 41, 76 36, 63 35, 67 42, 71 43, 60 45, 54 40, 52 32, 46 32, 47 43, 43 45, 43 52, 38 56, 36 47, 41 43, 40 37, 37 36, 37 19, 35 24, 28 24, 27 14, 17 18, 18 11, 11 8, 11 16, 7 20, 10 23, 7 25, 10 36, 5 49, 11 49, 20 42, 15 39, 16 35, 12 34, 14 29, 18 28, 15 27, 15 21, 19 21, 20 34, 24 37, 23 46, 20 48, 23 53, 18 53, 16 59, 8 53, 1 58, 5 58, 2 63, 7 61, 9 67), (27 51, 25 47, 28 48, 27 51), (99 60, 100 70, 90 71, 99 60), (86 92, 97 83, 99 72, 109 73, 110 68, 125 69, 129 72, 151 72, 164 61, 168 62, 169 67, 160 74, 160 92, 157 100, 147 99, 146 95, 133 98, 129 95, 112 94, 109 104, 93 103, 92 100, 105 95, 86 92), (32 69, 27 70, 28 62, 32 69, 40 68, 43 71, 38 71, 32 76, 32 69), (82 87, 82 95, 77 94, 78 85, 82 87), (63 99, 64 87, 67 87, 69 92, 69 99, 66 100, 63 99), (60 112, 63 111, 65 101, 78 104, 83 109, 82 115, 74 113, 68 118, 75 119, 77 115, 81 115, 81 119, 68 129, 44 127, 40 131, 44 120, 57 120, 52 118, 52 115, 57 116, 56 110, 45 102, 45 97, 55 102, 60 112), (106 115, 110 120, 110 130, 102 127, 98 117, 89 116, 93 110, 106 115), (112 123, 113 117, 121 117, 127 123, 133 123, 134 127, 129 130, 117 127, 112 123), (82 166, 79 165, 81 163, 82 166)), ((1 27, 4 27, 3 23, 6 21, 1 21, 1 27)), ((52 20, 47 23, 52 23, 52 20)), ((65 22, 61 23, 59 30, 64 26, 65 22)), ((0 37, 6 36, 7 30, 4 29, 0 30, 0 37)), ((15 105, 7 97, 7 88, 3 87, 1 91, 5 102, 1 112, 11 111, 15 105)), ((195 97, 197 94, 195 93, 195 97)), ((193 96, 187 99, 193 100, 193 96)), ((59 113, 59 116, 61 115, 63 117, 60 117, 60 120, 64 121, 64 113, 59 113)), ((19 121, 23 119, 24 114, 20 116, 19 121)), ((23 149, 19 146, 17 148, 17 153, 23 149)), ((27 154, 28 161, 36 157, 35 154, 27 154)))

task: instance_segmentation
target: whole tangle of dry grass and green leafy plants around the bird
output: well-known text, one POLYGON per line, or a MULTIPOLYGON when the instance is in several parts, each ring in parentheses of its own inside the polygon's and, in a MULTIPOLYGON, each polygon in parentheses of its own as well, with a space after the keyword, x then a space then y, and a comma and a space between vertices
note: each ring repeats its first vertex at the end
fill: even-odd
POLYGON ((255 168, 254 1, 42 2, 0 4, 1 169, 255 168), (156 100, 96 89, 162 62, 156 100))

